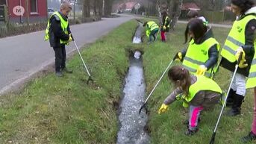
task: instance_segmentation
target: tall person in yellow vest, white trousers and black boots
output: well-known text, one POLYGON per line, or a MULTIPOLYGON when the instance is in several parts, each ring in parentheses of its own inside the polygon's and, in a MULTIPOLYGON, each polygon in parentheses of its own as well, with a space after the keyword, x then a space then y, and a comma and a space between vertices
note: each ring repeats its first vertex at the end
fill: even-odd
POLYGON ((255 51, 256 11, 251 9, 253 5, 254 2, 251 0, 231 1, 231 9, 236 14, 237 19, 234 21, 222 48, 220 66, 230 70, 231 75, 234 75, 234 66, 237 64, 236 51, 243 49, 246 54, 243 54, 228 94, 227 107, 231 107, 231 110, 228 110, 228 116, 237 116, 241 113, 241 105, 246 96, 246 77, 252 77, 253 75, 249 75, 254 56, 252 51, 255 51))

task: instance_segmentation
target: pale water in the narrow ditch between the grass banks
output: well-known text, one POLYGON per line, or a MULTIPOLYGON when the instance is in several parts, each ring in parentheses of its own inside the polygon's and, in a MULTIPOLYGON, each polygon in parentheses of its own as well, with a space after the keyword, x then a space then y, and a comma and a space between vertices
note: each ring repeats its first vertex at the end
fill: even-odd
MULTIPOLYGON (((141 27, 140 24, 134 37, 141 35, 141 27)), ((117 134, 117 144, 149 144, 149 134, 145 131, 147 115, 144 111, 139 114, 146 94, 140 51, 135 52, 134 57, 130 57, 130 67, 125 76, 124 96, 119 105, 120 129, 117 134)))

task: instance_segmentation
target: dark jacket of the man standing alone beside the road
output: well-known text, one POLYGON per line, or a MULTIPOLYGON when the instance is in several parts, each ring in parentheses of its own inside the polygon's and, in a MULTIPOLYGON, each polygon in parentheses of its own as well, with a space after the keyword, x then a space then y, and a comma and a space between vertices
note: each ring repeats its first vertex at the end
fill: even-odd
MULTIPOLYGON (((60 13, 60 12, 58 12, 60 13)), ((63 17, 64 20, 68 20, 66 16, 63 16, 62 13, 60 13, 60 15, 63 17)), ((70 28, 68 25, 67 28, 69 34, 71 34, 70 32, 70 28)), ((64 31, 62 30, 61 26, 60 26, 60 18, 56 15, 51 16, 50 18, 50 28, 49 28, 49 41, 50 41, 50 46, 51 47, 60 47, 63 46, 64 44, 60 44, 60 39, 61 40, 69 40, 69 34, 65 34, 64 31)))

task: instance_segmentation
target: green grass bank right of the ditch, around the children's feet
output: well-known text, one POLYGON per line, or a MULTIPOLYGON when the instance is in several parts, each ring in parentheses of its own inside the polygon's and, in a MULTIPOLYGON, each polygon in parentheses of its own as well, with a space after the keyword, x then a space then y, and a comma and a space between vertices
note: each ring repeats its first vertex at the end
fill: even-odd
MULTIPOLYGON (((146 75, 147 93, 149 93, 157 79, 160 78, 163 70, 166 69, 176 52, 187 47, 184 43, 184 24, 179 24, 175 31, 171 31, 168 35, 167 43, 161 43, 160 37, 156 43, 145 48, 143 54, 143 63, 146 75)), ((228 35, 228 28, 214 28, 213 34, 216 40, 223 46, 225 38, 228 35)), ((173 65, 181 64, 174 62, 173 65)), ((216 74, 216 82, 227 90, 230 83, 230 72, 220 68, 216 74)), ((210 137, 216 120, 221 110, 220 105, 216 105, 213 109, 202 113, 202 121, 199 124, 199 132, 193 137, 187 137, 184 132, 187 126, 183 122, 188 119, 188 110, 182 107, 182 101, 175 101, 170 105, 169 110, 161 115, 157 114, 157 110, 163 100, 172 92, 172 86, 165 75, 158 85, 154 94, 149 99, 149 131, 151 131, 152 143, 154 144, 205 144, 210 142, 210 137)), ((216 144, 238 144, 240 137, 245 136, 250 131, 252 123, 253 96, 252 90, 247 90, 246 101, 243 103, 242 114, 236 117, 222 116, 219 128, 216 132, 216 144)), ((228 108, 226 109, 228 110, 228 108)))

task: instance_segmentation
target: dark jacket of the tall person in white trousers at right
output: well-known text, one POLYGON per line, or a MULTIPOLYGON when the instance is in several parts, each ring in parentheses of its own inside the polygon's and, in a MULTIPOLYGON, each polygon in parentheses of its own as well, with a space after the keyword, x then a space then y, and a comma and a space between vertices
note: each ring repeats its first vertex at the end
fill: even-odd
MULTIPOLYGON (((247 15, 240 16, 240 19, 243 19, 248 15, 256 16, 256 13, 249 13, 247 15)), ((251 67, 250 64, 252 63, 252 58, 255 54, 255 48, 254 48, 255 28, 256 28, 256 20, 252 19, 246 25, 246 31, 245 31, 246 44, 244 46, 242 46, 243 50, 246 53, 246 63, 248 63, 248 66, 244 69, 240 69, 240 68, 237 69, 238 73, 245 75, 245 76, 249 75, 249 70, 251 67)), ((225 69, 230 70, 231 72, 234 72, 234 68, 235 68, 236 64, 237 64, 237 62, 231 63, 230 61, 225 59, 225 57, 222 57, 222 60, 220 61, 220 66, 224 67, 225 69)))

